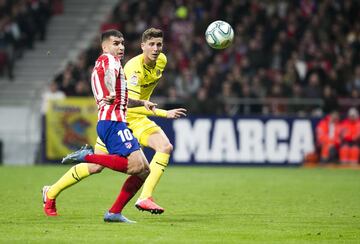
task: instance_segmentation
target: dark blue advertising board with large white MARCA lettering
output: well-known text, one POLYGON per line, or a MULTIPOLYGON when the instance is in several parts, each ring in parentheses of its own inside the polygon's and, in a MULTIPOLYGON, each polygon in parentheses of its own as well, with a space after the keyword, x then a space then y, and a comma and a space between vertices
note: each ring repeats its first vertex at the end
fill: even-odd
MULTIPOLYGON (((315 151, 317 120, 290 117, 152 118, 174 145, 174 164, 300 165, 315 151)), ((151 157, 150 150, 145 150, 151 157)))

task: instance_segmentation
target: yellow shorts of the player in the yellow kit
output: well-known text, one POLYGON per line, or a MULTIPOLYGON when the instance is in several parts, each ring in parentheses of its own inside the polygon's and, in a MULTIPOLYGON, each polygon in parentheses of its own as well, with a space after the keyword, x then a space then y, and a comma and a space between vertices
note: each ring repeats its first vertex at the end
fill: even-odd
MULTIPOLYGON (((138 139, 142 146, 148 146, 149 136, 157 131, 161 131, 161 128, 152 120, 147 117, 136 117, 127 119, 129 129, 132 130, 133 135, 138 139)), ((95 150, 99 149, 103 152, 108 153, 106 145, 98 137, 96 139, 95 150)))

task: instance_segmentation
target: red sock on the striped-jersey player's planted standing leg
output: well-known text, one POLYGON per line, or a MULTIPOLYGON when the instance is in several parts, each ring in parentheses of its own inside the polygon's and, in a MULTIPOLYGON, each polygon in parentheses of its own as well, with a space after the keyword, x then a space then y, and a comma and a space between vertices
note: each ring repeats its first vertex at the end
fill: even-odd
POLYGON ((144 180, 139 176, 131 175, 129 176, 124 185, 121 188, 120 194, 116 198, 116 201, 110 208, 110 213, 121 213, 125 205, 130 201, 130 199, 136 194, 136 192, 144 184, 144 180))

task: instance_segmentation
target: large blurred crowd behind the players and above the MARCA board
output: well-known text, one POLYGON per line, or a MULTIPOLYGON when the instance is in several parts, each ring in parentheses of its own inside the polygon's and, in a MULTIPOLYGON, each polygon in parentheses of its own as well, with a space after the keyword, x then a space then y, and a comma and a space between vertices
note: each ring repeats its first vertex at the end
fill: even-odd
MULTIPOLYGON (((357 0, 119 1, 100 31, 123 32, 126 62, 141 52, 148 27, 165 34, 168 64, 154 94, 166 98, 165 107, 181 105, 198 115, 326 114, 340 109, 338 98, 359 99, 357 0), (234 43, 221 51, 204 38, 218 19, 235 32, 234 43)), ((89 76, 99 54, 94 39, 54 78, 59 89, 91 96, 89 76)))

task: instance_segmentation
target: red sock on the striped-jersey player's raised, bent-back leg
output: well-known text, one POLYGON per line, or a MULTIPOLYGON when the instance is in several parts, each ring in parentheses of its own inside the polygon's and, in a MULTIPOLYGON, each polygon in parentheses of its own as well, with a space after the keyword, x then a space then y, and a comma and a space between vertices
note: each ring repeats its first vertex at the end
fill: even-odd
POLYGON ((85 156, 88 163, 100 164, 106 168, 126 173, 128 159, 119 155, 89 154, 85 156))

